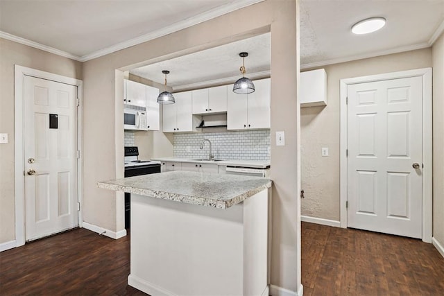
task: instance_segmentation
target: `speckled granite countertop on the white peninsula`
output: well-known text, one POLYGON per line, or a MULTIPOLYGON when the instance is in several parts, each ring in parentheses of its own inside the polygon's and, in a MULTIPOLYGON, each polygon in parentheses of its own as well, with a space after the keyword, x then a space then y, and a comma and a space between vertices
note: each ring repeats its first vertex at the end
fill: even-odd
POLYGON ((97 182, 103 189, 228 209, 271 187, 264 177, 171 171, 97 182))

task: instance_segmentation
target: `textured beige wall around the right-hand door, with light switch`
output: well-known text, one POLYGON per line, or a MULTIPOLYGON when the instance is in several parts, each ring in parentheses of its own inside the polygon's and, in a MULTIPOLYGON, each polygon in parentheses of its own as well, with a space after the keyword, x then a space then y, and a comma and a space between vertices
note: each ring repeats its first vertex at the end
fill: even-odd
MULTIPOLYGON (((305 191, 305 198, 301 202, 303 216, 340 220, 340 80, 425 67, 432 67, 430 48, 323 67, 327 71, 327 106, 300 110, 301 177, 305 191), (322 147, 329 148, 329 157, 321 157, 322 147)), ((434 128, 436 132, 441 130, 442 134, 442 124, 434 128)))

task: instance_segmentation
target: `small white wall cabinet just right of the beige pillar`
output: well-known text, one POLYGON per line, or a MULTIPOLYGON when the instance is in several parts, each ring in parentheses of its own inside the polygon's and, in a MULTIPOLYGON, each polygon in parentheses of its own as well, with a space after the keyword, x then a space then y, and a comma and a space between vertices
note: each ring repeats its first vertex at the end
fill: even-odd
POLYGON ((300 73, 300 107, 327 105, 327 73, 325 69, 300 73))

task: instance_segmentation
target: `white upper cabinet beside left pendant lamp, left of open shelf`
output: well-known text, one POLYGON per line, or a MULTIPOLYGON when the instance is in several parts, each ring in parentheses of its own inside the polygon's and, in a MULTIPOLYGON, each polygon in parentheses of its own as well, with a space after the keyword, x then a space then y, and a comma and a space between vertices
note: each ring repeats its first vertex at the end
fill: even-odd
POLYGON ((176 103, 163 105, 163 132, 196 132, 200 119, 192 114, 191 92, 173 96, 176 103))

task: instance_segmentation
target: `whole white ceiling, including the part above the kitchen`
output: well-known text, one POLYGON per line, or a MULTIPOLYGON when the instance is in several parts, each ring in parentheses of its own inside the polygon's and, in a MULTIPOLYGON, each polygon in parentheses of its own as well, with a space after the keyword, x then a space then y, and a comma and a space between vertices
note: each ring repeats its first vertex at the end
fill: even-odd
MULTIPOLYGON (((167 35, 262 0, 0 0, 0 37, 86 61, 167 35), (87 9, 85 9, 87 3, 87 9)), ((444 30, 444 0, 300 0, 301 68, 422 49, 444 30), (352 24, 385 17, 382 30, 353 35, 352 24)), ((130 71, 187 89, 270 69, 270 35, 185 55, 130 71)))

